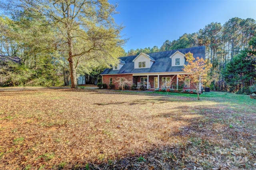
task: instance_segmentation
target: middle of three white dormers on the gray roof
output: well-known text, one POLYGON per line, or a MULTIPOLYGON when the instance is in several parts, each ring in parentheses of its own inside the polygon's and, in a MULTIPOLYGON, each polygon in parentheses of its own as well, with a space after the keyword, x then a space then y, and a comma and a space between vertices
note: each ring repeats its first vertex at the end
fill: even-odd
POLYGON ((155 60, 145 53, 140 53, 132 62, 134 68, 150 68, 155 60))

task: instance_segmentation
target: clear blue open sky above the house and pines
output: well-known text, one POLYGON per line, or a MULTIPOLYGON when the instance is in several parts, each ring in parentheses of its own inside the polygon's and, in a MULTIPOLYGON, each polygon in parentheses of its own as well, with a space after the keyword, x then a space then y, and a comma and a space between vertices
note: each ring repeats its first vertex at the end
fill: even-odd
POLYGON ((222 25, 231 18, 256 20, 256 0, 109 0, 118 3, 114 16, 123 23, 124 46, 130 49, 159 48, 167 39, 198 32, 211 22, 222 25))

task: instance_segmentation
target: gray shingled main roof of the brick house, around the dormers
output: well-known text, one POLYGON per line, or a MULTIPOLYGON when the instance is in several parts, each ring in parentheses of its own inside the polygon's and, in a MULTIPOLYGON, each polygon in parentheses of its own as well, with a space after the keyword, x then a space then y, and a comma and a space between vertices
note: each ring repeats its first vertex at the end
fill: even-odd
MULTIPOLYGON (((134 73, 154 73, 154 72, 181 72, 183 66, 172 66, 172 59, 169 57, 176 51, 183 54, 188 52, 193 53, 194 58, 199 57, 205 59, 205 46, 192 47, 187 49, 177 49, 172 51, 162 51, 158 53, 148 53, 155 62, 150 68, 134 69, 134 62, 132 62, 138 55, 120 57, 126 64, 120 70, 113 70, 112 68, 105 69, 101 74, 134 74, 134 73)), ((185 62, 187 64, 187 62, 185 62)))

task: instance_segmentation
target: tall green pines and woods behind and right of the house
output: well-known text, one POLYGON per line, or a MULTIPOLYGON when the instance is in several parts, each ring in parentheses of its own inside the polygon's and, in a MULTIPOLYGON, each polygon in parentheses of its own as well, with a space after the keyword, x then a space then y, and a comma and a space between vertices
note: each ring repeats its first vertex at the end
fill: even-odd
MULTIPOLYGON (((255 84, 256 21, 231 18, 224 25, 212 22, 196 33, 185 33, 177 40, 166 40, 158 48, 131 49, 127 55, 155 53, 189 47, 206 46, 206 59, 212 64, 207 86, 212 90, 248 91, 255 84), (239 63, 240 62, 240 63, 239 63), (243 63, 243 64, 241 64, 243 63)), ((196 56, 195 56, 196 57, 196 56)))

